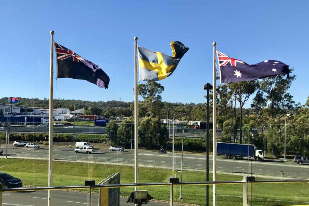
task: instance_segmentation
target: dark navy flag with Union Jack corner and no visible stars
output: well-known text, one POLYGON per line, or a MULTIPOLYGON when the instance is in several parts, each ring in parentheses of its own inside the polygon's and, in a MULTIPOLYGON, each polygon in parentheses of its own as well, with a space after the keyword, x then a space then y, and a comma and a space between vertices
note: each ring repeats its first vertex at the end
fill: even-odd
POLYGON ((96 64, 55 42, 57 78, 83 79, 100 88, 108 88, 108 75, 96 64))

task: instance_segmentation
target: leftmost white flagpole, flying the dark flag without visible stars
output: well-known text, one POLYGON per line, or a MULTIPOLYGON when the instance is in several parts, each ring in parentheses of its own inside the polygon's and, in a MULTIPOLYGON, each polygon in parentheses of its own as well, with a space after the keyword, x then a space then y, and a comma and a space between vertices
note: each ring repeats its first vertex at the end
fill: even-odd
MULTIPOLYGON (((53 185, 53 54, 54 31, 50 31, 50 82, 49 82, 49 143, 48 143, 48 186, 53 185)), ((52 191, 48 191, 48 206, 52 206, 52 191)))

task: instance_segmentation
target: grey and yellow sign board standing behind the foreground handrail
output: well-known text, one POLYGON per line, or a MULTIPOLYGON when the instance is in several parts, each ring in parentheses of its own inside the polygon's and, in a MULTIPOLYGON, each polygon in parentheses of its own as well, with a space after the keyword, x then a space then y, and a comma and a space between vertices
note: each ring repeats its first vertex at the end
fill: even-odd
MULTIPOLYGON (((120 173, 114 173, 99 184, 119 184, 120 173)), ((120 188, 99 188, 99 206, 119 206, 120 188)))

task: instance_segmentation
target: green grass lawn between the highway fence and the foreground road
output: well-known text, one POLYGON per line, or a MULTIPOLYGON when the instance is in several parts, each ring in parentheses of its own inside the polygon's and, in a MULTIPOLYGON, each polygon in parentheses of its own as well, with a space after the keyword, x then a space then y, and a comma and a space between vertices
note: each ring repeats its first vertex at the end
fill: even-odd
MULTIPOLYGON (((48 162, 38 160, 0 159, 0 171, 20 178, 23 184, 46 186, 48 184, 48 162)), ((85 164, 73 162, 53 162, 53 185, 83 185, 85 180, 93 179, 96 183, 108 177, 114 172, 120 173, 121 183, 134 182, 134 169, 130 166, 110 166, 103 164, 85 164)), ((139 182, 168 182, 172 175, 171 170, 139 168, 139 182)), ((180 177, 180 172, 176 173, 180 177)), ((210 174, 210 180, 212 175, 210 174)), ((184 171, 183 181, 205 181, 204 172, 184 171)), ((218 174, 220 180, 241 180, 241 176, 218 174)), ((296 202, 278 202, 264 199, 309 202, 308 183, 276 183, 276 184, 253 184, 253 205, 299 205, 296 202)), ((139 187, 148 190, 155 199, 169 200, 169 187, 139 187)), ((251 185, 248 185, 249 196, 251 185)), ((121 195, 128 196, 133 187, 121 188, 121 195)), ((212 201, 210 186, 210 200, 212 201)), ((174 197, 177 201, 205 205, 206 186, 183 186, 183 200, 178 200, 179 186, 174 187, 174 197)), ((242 205, 242 185, 218 185, 218 205, 242 205)), ((251 201, 251 199, 249 198, 251 201)))

